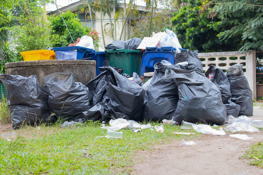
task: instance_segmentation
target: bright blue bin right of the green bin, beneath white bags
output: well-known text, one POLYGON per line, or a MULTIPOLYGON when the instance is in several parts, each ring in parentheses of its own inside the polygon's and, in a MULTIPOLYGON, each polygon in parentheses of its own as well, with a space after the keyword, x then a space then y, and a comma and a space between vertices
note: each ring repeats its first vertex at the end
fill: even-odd
POLYGON ((141 75, 147 72, 154 72, 154 64, 167 60, 174 64, 173 47, 146 47, 141 59, 141 75))

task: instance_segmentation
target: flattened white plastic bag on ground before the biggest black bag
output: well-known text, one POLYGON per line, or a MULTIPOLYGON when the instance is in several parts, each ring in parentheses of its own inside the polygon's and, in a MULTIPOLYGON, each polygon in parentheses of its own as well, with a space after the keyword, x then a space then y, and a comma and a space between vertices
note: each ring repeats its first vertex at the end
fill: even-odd
POLYGON ((211 126, 209 125, 199 124, 199 125, 193 125, 193 128, 196 132, 201 132, 203 134, 211 134, 211 135, 218 135, 218 136, 226 135, 222 127, 219 130, 216 130, 216 129, 211 128, 211 126))

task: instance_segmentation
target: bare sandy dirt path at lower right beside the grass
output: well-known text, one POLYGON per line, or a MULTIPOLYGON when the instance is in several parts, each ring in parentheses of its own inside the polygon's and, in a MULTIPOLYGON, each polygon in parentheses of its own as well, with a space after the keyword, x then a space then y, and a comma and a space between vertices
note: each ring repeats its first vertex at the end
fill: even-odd
MULTIPOLYGON (((251 118, 262 120, 263 110, 254 108, 251 118)), ((263 133, 246 134, 255 138, 243 141, 228 135, 203 135, 200 140, 195 140, 197 146, 181 147, 179 141, 175 141, 158 146, 159 151, 139 152, 138 163, 132 167, 131 174, 263 174, 263 169, 250 166, 248 161, 239 158, 251 144, 263 141, 263 133)))

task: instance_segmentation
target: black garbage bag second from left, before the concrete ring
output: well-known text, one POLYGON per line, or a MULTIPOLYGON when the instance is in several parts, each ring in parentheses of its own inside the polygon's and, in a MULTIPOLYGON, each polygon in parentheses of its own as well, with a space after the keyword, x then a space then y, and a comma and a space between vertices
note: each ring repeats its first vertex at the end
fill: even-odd
POLYGON ((73 73, 53 73, 43 78, 48 94, 50 110, 65 120, 85 119, 82 114, 91 108, 89 89, 80 82, 75 82, 73 73))

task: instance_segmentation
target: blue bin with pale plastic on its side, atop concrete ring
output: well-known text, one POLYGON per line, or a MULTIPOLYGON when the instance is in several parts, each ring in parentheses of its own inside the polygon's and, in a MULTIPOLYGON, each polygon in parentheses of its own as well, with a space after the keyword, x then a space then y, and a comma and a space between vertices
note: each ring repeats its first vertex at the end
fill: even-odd
POLYGON ((80 47, 80 46, 70 46, 70 47, 54 47, 56 59, 66 60, 66 59, 83 59, 87 58, 87 53, 93 52, 93 49, 80 47))

